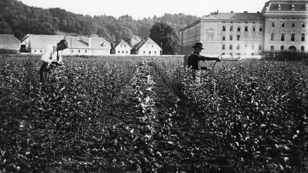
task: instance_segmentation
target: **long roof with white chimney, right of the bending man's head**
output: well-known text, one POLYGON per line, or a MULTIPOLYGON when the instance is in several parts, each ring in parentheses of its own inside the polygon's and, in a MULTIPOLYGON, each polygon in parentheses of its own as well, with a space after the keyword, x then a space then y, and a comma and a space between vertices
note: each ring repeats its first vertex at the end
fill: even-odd
MULTIPOLYGON (((69 48, 89 49, 89 37, 66 37, 69 48)), ((91 37, 91 49, 111 49, 111 45, 103 38, 91 37), (103 47, 106 44, 106 47, 103 47)))

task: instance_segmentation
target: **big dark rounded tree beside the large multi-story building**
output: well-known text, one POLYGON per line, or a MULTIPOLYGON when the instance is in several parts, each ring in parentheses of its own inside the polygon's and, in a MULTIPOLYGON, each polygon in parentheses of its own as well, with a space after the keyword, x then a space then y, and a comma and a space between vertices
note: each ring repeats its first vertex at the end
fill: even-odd
POLYGON ((179 36, 175 29, 165 22, 156 23, 150 29, 150 38, 160 45, 164 52, 177 52, 180 49, 179 36))

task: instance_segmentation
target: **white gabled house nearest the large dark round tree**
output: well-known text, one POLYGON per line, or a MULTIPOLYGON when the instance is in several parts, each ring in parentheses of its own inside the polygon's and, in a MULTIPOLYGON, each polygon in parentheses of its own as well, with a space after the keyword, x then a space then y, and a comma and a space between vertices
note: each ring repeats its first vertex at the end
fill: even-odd
POLYGON ((144 38, 132 49, 132 54, 160 56, 160 46, 151 38, 144 38))

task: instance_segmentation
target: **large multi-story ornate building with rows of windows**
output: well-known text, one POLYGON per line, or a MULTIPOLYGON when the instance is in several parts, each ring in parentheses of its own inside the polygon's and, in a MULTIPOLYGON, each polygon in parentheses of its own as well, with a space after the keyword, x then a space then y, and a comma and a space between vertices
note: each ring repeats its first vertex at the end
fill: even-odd
POLYGON ((179 30, 180 54, 201 42, 204 54, 258 55, 262 50, 307 48, 308 0, 270 0, 261 13, 218 10, 179 30))

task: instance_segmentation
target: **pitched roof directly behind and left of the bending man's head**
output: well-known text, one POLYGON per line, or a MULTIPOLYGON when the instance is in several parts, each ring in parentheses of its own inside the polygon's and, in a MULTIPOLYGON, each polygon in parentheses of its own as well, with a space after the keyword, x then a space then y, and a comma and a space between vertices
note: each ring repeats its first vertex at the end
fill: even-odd
POLYGON ((49 44, 58 43, 64 35, 29 35, 31 48, 45 48, 49 44))

